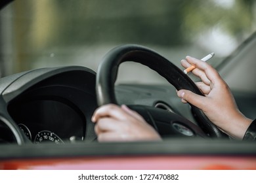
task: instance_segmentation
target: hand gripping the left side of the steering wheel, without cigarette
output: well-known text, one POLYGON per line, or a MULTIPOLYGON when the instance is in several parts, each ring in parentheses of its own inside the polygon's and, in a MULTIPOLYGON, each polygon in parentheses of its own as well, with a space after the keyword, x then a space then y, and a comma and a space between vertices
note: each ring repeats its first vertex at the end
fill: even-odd
POLYGON ((156 141, 160 135, 137 112, 126 105, 104 105, 95 110, 98 141, 156 141))

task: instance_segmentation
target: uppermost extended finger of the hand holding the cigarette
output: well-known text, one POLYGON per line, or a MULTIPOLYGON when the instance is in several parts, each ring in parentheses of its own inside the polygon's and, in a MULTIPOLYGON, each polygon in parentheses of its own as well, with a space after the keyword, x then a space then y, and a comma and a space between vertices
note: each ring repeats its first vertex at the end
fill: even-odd
MULTIPOLYGON (((192 58, 190 56, 186 56, 186 60, 191 65, 194 65, 196 68, 202 70, 211 82, 214 83, 217 80, 221 79, 221 76, 219 76, 219 73, 205 61, 202 61, 202 60, 196 59, 196 58, 192 58)), ((199 76, 200 76, 200 74, 199 74, 199 76)))

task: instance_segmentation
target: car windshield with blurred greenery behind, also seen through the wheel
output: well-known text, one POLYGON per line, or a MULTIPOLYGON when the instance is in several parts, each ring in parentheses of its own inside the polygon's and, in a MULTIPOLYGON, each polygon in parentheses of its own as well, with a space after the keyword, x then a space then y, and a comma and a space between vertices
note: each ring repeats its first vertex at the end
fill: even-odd
MULTIPOLYGON (((147 46, 180 66, 211 52, 216 67, 255 29, 253 0, 19 0, 0 12, 1 76, 82 65, 96 71, 120 44, 147 46)), ((119 82, 161 82, 124 63, 119 82), (138 81, 140 78, 140 81, 138 81)))

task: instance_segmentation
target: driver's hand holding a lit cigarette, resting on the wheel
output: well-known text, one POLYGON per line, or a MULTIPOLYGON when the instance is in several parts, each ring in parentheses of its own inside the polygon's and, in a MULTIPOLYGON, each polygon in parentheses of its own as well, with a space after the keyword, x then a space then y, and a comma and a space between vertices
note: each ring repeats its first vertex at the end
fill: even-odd
POLYGON ((200 108, 209 120, 225 133, 242 139, 252 120, 245 118, 238 110, 228 85, 219 73, 208 63, 190 56, 182 59, 181 65, 184 68, 190 67, 190 65, 196 67, 192 73, 202 80, 196 82, 196 85, 205 94, 205 96, 201 96, 188 90, 179 90, 177 95, 181 97, 181 101, 200 108))

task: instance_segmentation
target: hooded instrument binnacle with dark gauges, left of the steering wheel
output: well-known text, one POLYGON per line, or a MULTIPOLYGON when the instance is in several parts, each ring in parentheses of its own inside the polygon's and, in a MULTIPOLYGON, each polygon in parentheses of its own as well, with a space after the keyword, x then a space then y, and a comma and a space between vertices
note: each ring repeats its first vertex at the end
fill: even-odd
MULTIPOLYGON (((45 76, 38 76, 39 80, 37 76, 26 79, 26 75, 39 72, 37 70, 16 78, 12 84, 22 81, 23 84, 11 90, 14 94, 5 89, 4 98, 13 95, 12 99, 6 97, 9 100, 6 103, 9 120, 18 125, 28 142, 35 144, 94 141, 96 135, 91 116, 97 106, 95 73, 83 67, 47 70, 45 76)), ((9 141, 8 138, 5 140, 9 141)))

